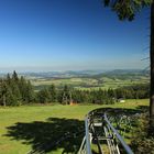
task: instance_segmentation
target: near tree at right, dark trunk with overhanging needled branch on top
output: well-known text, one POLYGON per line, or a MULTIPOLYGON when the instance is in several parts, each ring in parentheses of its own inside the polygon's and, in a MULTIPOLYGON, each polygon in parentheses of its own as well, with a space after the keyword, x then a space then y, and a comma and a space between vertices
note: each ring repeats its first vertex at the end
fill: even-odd
POLYGON ((102 0, 105 7, 110 7, 120 20, 134 20, 136 12, 144 7, 151 7, 151 92, 150 92, 150 129, 154 133, 154 0, 102 0))

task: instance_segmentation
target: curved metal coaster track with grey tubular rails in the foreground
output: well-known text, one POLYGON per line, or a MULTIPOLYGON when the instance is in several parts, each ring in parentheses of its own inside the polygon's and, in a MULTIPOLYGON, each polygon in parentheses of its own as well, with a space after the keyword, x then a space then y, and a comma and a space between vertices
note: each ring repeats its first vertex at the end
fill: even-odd
MULTIPOLYGON (((85 117, 85 136, 78 151, 78 154, 133 154, 130 146, 124 142, 119 131, 113 125, 120 125, 116 121, 111 122, 110 113, 114 112, 114 109, 96 109, 90 111, 85 117), (97 145, 97 152, 94 152, 97 145), (106 144, 106 146, 105 146, 106 144)), ((117 121, 122 119, 129 119, 127 116, 122 116, 117 121)))

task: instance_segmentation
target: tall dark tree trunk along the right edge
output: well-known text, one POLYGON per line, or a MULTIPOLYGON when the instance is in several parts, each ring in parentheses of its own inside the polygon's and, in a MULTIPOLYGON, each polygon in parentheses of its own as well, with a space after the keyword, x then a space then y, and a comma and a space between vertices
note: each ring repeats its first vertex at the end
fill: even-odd
POLYGON ((154 2, 151 6, 151 94, 150 94, 150 131, 154 133, 154 2))

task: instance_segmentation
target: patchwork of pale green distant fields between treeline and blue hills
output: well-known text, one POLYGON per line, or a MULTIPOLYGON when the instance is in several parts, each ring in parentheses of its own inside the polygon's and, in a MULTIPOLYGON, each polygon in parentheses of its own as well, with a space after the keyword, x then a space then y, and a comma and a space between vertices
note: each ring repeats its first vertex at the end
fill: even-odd
POLYGON ((63 87, 64 85, 68 85, 78 89, 109 89, 109 88, 119 88, 123 86, 131 86, 136 84, 147 84, 148 77, 139 76, 134 78, 125 77, 125 78, 110 78, 110 77, 100 77, 100 78, 91 78, 91 77, 73 77, 73 78, 42 78, 42 79, 31 79, 32 85, 35 86, 36 89, 41 89, 42 87, 50 86, 54 84, 57 87, 63 87))

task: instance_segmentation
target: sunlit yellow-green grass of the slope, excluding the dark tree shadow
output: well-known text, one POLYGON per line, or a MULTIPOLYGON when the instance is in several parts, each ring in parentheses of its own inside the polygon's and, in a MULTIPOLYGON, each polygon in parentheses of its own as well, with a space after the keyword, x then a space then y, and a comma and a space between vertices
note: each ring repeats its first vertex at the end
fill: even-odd
MULTIPOLYGON (((125 103, 113 105, 112 107, 135 109, 138 106, 147 106, 147 100, 139 100, 138 103, 135 100, 127 100, 125 103)), ((21 138, 13 140, 11 136, 6 136, 6 134, 8 134, 7 128, 14 125, 16 122, 46 122, 48 118, 84 120, 84 117, 88 111, 105 107, 111 106, 43 106, 0 108, 0 153, 24 154, 32 148, 32 145, 25 142, 26 140, 21 140, 21 138)), ((58 148, 53 153, 61 154, 62 150, 58 148)))

